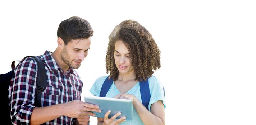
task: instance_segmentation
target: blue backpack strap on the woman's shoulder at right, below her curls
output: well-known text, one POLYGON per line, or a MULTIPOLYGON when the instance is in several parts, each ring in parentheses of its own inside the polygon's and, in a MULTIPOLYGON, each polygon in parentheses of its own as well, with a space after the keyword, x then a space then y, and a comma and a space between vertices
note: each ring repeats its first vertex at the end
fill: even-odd
POLYGON ((150 91, 149 91, 149 83, 148 79, 146 81, 140 81, 140 91, 141 91, 141 100, 142 104, 148 109, 148 104, 150 101, 150 91))

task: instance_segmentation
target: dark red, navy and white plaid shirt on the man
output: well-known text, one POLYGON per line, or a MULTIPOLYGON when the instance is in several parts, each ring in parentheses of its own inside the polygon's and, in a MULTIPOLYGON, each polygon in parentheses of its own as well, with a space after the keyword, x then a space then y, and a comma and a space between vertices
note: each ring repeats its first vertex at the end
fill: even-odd
MULTIPOLYGON (((42 92, 42 107, 81 100, 83 82, 77 72, 69 68, 66 73, 56 64, 51 52, 45 51, 38 56, 44 62, 47 74, 47 86, 42 92)), ((14 124, 29 124, 35 105, 37 62, 28 57, 15 68, 10 82, 9 98, 11 116, 14 124)), ((75 119, 61 116, 44 125, 73 125, 75 119)))

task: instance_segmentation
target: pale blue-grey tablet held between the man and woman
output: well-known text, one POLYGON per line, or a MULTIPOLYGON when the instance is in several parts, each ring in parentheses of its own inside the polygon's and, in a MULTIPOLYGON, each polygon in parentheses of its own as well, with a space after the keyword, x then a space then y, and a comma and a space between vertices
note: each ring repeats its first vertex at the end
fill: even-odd
POLYGON ((109 97, 97 97, 97 96, 84 96, 84 101, 86 103, 91 103, 94 105, 98 105, 101 110, 95 113, 95 117, 104 117, 106 112, 111 110, 109 114, 109 119, 114 116, 116 113, 121 112, 121 115, 118 116, 116 119, 120 117, 126 117, 126 120, 133 120, 133 105, 132 100, 128 99, 114 99, 109 97))

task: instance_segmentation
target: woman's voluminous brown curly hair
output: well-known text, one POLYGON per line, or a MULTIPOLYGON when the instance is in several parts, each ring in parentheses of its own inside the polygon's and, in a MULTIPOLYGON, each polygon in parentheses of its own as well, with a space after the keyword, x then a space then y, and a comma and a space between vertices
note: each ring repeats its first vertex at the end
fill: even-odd
POLYGON ((119 71, 115 65, 115 43, 122 40, 130 54, 130 61, 134 67, 136 78, 145 81, 161 67, 160 54, 155 40, 148 30, 134 20, 125 20, 117 25, 109 35, 109 44, 106 55, 106 70, 110 72, 109 79, 117 80, 119 71))

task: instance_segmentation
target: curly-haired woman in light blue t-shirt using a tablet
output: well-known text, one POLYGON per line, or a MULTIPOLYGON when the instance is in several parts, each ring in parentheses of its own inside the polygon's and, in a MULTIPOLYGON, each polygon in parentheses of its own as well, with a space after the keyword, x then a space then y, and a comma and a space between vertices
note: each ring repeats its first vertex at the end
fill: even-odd
POLYGON ((101 87, 105 80, 113 80, 105 97, 129 99, 133 102, 133 120, 125 120, 120 114, 110 119, 105 114, 98 118, 98 125, 164 125, 165 100, 164 89, 153 70, 160 68, 160 50, 146 28, 134 20, 125 20, 117 25, 109 35, 106 55, 106 70, 109 76, 99 77, 90 92, 100 96, 101 87), (142 104, 140 86, 147 81, 150 100, 142 104))

